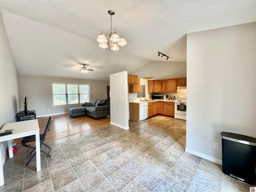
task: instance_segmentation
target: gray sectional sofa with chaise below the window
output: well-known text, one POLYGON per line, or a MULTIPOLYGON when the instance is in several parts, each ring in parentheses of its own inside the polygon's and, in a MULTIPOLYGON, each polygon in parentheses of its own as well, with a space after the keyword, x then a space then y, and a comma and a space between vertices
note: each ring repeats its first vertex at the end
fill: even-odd
POLYGON ((94 99, 92 102, 81 104, 81 107, 70 108, 68 113, 71 117, 87 115, 100 118, 110 115, 109 99, 94 99))

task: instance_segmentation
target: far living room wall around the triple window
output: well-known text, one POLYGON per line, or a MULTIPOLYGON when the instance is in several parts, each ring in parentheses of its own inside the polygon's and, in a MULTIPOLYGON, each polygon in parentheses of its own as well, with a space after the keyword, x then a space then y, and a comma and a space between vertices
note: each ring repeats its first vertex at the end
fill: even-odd
POLYGON ((106 85, 109 85, 108 81, 39 76, 19 76, 20 111, 22 111, 24 108, 25 96, 27 96, 28 98, 28 110, 36 110, 36 116, 61 114, 64 112, 68 112, 68 109, 71 107, 80 106, 79 104, 72 106, 52 107, 52 82, 90 84, 90 100, 107 98, 106 85), (48 112, 48 109, 50 109, 50 112, 48 112))

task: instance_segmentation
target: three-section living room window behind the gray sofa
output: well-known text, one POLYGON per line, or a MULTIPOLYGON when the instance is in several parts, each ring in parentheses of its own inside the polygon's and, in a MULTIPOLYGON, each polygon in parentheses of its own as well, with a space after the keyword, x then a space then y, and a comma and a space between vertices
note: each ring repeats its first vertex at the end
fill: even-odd
POLYGON ((90 102, 90 84, 52 83, 52 106, 90 102))

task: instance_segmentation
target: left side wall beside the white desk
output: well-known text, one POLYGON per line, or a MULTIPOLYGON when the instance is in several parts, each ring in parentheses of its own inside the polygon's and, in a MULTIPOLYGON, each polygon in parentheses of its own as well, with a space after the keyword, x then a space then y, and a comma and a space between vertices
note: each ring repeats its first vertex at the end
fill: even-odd
MULTIPOLYGON (((2 14, 0 12, 0 129, 9 122, 15 121, 17 113, 18 73, 10 50, 6 35, 2 14)), ((0 160, 4 162, 6 156, 6 144, 0 143, 0 160), (1 147, 3 144, 3 150, 1 147)), ((0 168, 2 169, 2 167, 0 168)))

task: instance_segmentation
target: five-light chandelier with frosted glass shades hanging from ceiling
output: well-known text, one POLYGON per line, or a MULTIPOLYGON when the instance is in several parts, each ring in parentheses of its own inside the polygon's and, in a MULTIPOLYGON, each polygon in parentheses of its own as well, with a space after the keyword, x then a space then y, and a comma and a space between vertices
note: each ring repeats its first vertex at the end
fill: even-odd
POLYGON ((110 49, 113 50, 113 51, 118 51, 119 50, 119 46, 126 46, 127 45, 127 42, 126 40, 123 38, 122 34, 121 33, 116 33, 116 29, 114 28, 114 30, 112 31, 112 15, 115 14, 114 11, 111 11, 109 10, 108 11, 108 14, 110 14, 110 25, 111 25, 111 28, 110 28, 110 36, 108 36, 107 34, 104 35, 103 34, 103 31, 107 33, 106 30, 102 30, 101 31, 101 34, 98 36, 97 38, 97 42, 99 42, 99 47, 100 48, 103 48, 103 49, 106 49, 108 48, 108 44, 107 42, 109 43, 109 46, 110 46, 110 49), (118 36, 118 34, 121 34, 121 37, 118 36))

